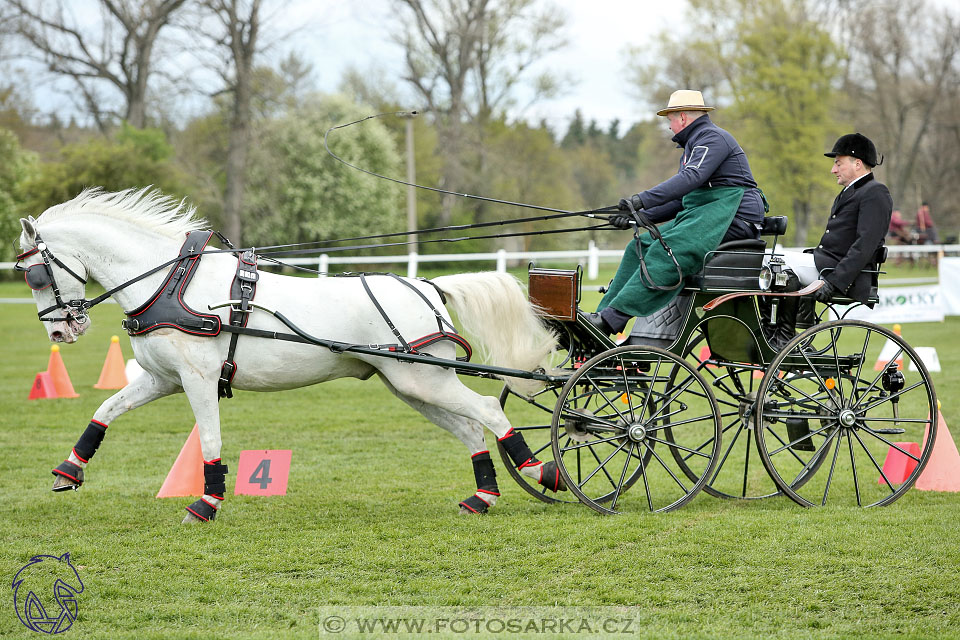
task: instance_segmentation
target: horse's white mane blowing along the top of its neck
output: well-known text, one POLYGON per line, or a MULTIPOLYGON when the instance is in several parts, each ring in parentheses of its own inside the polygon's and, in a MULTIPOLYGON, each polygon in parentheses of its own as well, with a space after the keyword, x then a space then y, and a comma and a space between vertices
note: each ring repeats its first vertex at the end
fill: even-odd
POLYGON ((185 200, 177 201, 151 187, 115 193, 93 187, 84 189, 73 200, 50 207, 37 222, 43 224, 70 215, 92 213, 126 220, 171 238, 183 238, 190 231, 209 227, 206 220, 194 217, 196 212, 196 207, 185 200))

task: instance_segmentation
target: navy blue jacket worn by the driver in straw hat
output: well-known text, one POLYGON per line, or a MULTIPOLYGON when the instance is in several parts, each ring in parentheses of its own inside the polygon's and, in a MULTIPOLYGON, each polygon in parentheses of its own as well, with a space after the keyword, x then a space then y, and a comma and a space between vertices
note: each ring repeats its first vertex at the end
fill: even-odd
POLYGON ((700 187, 745 187, 737 218, 763 224, 763 199, 750 172, 747 155, 733 136, 703 115, 673 136, 683 148, 680 171, 657 186, 640 192, 645 213, 654 222, 674 218, 683 209, 681 200, 700 187))

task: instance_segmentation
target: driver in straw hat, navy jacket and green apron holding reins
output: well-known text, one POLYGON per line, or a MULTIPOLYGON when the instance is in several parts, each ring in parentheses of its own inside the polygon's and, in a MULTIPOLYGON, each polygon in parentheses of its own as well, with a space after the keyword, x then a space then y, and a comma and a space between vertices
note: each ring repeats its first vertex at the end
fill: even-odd
POLYGON ((680 170, 621 200, 621 213, 610 222, 619 229, 643 217, 665 222, 659 232, 673 256, 649 233, 631 241, 597 313, 587 316, 601 331, 618 333, 631 317, 666 306, 680 293, 683 276, 699 272, 721 241, 760 237, 766 203, 743 149, 707 115, 713 109, 699 91, 680 90, 657 112, 670 121, 673 141, 683 149, 680 170))

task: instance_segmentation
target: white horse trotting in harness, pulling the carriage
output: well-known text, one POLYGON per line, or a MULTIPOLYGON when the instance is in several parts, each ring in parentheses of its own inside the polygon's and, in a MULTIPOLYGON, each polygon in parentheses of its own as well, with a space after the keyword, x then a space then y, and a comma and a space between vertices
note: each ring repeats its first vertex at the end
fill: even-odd
MULTIPOLYGON (((186 235, 202 233, 206 227, 194 215, 192 207, 146 189, 119 193, 87 190, 51 207, 36 220, 21 219, 24 253, 18 264, 28 270, 26 279, 34 288, 50 339, 74 342, 89 326, 85 309, 69 304, 83 299, 82 281, 93 278, 109 291, 176 258, 186 235)), ((124 310, 134 310, 167 284, 170 269, 176 266, 116 291, 113 298, 124 310)), ((236 271, 233 254, 202 256, 183 302, 199 312, 219 315, 227 325, 229 308, 209 311, 209 307, 229 299, 236 271)), ((437 314, 410 286, 388 276, 369 276, 367 282, 405 340, 437 332, 437 314)), ((467 334, 485 348, 494 365, 532 371, 544 367, 555 348, 554 336, 539 321, 512 276, 443 276, 434 279, 434 286, 420 280, 408 282, 449 320, 438 293, 442 291, 467 334)), ((357 277, 294 278, 261 271, 254 302, 282 312, 312 336, 360 345, 397 343, 357 277)), ((287 326, 263 310, 252 312, 247 326, 289 333, 287 326)), ((223 501, 227 472, 220 460, 217 385, 229 341, 225 333, 198 336, 174 328, 131 335, 134 354, 145 373, 97 409, 69 457, 54 470, 54 490, 79 488, 83 469, 107 426, 118 416, 183 391, 199 426, 205 463, 204 495, 187 508, 190 513, 184 522, 213 519, 223 501)), ((452 360, 456 345, 442 340, 424 347, 421 353, 452 360)), ((564 488, 555 479, 559 477, 555 463, 544 465, 536 460, 523 437, 512 430, 498 401, 464 386, 452 369, 244 335, 238 339, 235 362, 232 386, 249 391, 279 391, 342 377, 378 375, 394 395, 469 449, 477 493, 461 503, 461 512, 484 512, 499 495, 483 426, 503 442, 524 474, 553 490, 564 488)))

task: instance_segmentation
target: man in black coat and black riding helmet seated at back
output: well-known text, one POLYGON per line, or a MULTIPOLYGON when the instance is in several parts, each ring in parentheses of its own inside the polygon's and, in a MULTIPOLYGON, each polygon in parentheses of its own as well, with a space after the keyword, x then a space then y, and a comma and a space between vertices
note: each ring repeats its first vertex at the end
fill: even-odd
POLYGON ((830 173, 837 177, 843 191, 833 201, 827 228, 817 246, 804 253, 786 251, 784 261, 801 285, 824 281, 814 294, 820 302, 843 294, 868 304, 870 271, 878 267, 874 258, 893 214, 890 192, 873 175, 883 156, 878 157, 873 142, 860 133, 840 136, 833 149, 823 155, 833 158, 830 173))

